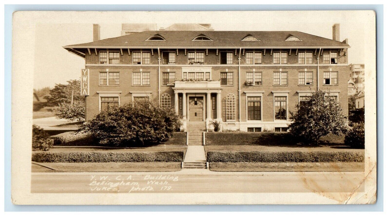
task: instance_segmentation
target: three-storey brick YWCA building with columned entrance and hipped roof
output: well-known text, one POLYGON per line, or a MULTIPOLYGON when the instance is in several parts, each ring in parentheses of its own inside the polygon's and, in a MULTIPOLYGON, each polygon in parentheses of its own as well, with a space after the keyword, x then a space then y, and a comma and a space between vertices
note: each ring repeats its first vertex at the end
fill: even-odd
MULTIPOLYGON (((145 31, 64 46, 85 58, 86 119, 129 101, 171 107, 188 122, 285 131, 289 111, 312 91, 348 112, 347 39, 296 31, 145 31), (88 77, 87 77, 88 75, 88 77)), ((83 92, 82 92, 83 93, 83 92)), ((208 126, 207 126, 208 127, 208 126)))

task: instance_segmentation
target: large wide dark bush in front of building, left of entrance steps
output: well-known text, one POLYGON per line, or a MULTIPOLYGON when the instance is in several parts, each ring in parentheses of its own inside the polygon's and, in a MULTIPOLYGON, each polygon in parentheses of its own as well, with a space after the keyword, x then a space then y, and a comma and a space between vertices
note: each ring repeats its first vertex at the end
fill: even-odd
POLYGON ((179 116, 170 108, 128 103, 99 113, 79 132, 90 133, 102 145, 134 147, 165 142, 180 125, 179 116))

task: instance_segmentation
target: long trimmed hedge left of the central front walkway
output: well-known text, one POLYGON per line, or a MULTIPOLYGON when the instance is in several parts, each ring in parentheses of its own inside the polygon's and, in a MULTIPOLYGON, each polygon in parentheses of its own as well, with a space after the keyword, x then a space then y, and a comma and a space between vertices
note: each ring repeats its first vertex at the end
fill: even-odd
POLYGON ((35 152, 32 161, 45 163, 182 162, 184 152, 35 152))

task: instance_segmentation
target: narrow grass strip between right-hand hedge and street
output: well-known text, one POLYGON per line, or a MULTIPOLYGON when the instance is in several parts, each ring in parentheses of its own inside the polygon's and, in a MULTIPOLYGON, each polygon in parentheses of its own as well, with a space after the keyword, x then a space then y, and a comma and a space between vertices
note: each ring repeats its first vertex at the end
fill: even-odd
POLYGON ((217 172, 363 172, 363 162, 334 163, 209 163, 217 172))

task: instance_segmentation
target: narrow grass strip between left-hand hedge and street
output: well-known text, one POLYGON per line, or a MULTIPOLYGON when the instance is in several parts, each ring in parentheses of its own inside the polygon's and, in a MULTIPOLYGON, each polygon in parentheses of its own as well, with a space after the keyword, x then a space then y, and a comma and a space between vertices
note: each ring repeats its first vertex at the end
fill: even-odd
POLYGON ((172 172, 181 170, 180 162, 135 162, 135 163, 41 163, 54 168, 50 170, 32 165, 31 172, 172 172))

